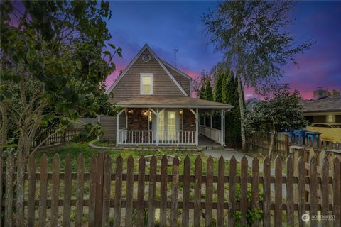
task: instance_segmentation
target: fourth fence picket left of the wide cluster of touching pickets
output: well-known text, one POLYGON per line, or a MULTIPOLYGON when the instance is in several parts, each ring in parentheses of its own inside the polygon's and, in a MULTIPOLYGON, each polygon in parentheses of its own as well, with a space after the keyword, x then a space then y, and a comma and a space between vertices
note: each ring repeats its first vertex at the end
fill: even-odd
POLYGON ((46 226, 46 199, 48 197, 48 158, 40 159, 39 226, 46 226))

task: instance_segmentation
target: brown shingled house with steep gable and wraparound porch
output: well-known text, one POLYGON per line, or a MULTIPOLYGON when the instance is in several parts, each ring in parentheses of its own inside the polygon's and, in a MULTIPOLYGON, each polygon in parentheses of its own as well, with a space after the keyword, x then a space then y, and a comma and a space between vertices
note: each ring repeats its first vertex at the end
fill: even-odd
POLYGON ((194 99, 192 78, 161 60, 146 44, 116 79, 107 94, 122 110, 99 116, 100 140, 117 145, 199 145, 203 134, 224 145, 224 113, 229 104, 194 99), (219 111, 221 129, 199 125, 199 116, 219 111))

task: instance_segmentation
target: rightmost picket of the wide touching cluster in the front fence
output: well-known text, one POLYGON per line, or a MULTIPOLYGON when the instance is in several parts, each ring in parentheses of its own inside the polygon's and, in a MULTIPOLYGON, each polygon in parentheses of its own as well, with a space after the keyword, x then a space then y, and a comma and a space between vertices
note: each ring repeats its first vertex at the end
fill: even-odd
MULTIPOLYGON (((119 157, 121 156, 119 155, 119 157)), ((118 167, 119 165, 117 165, 117 168, 118 167)), ((119 173, 117 173, 117 176, 119 176, 119 173)), ((112 177, 112 159, 110 158, 109 155, 105 155, 104 166, 103 166, 103 216, 102 216, 103 223, 102 223, 102 226, 109 226, 110 189, 111 189, 111 183, 112 183, 111 177, 112 177)), ((121 188, 119 189, 119 192, 121 192, 121 188)))

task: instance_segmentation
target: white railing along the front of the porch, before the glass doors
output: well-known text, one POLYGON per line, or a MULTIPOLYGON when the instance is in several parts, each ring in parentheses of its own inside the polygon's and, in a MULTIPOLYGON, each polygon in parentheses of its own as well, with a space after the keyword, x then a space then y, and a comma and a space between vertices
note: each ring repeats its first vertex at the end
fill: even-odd
POLYGON ((119 145, 195 145, 195 138, 195 131, 119 130, 119 145))

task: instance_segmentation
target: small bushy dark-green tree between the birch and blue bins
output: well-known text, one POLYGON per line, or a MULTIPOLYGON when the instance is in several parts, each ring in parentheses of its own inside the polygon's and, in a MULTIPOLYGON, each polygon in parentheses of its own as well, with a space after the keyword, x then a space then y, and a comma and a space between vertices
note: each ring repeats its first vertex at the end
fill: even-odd
POLYGON ((263 131, 271 133, 269 157, 274 150, 274 140, 278 131, 286 131, 291 128, 308 126, 308 121, 302 113, 299 104, 301 95, 298 91, 292 94, 288 92, 288 86, 279 86, 272 99, 261 101, 247 114, 246 126, 250 131, 263 131))

